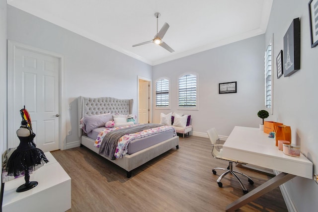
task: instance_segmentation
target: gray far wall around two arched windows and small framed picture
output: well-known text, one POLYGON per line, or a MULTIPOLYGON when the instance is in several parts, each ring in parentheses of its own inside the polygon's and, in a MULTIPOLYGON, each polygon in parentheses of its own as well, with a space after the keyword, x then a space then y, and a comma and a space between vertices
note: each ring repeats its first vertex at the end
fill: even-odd
POLYGON ((259 35, 205 52, 180 58, 153 69, 154 106, 156 80, 170 79, 170 110, 191 115, 193 135, 206 136, 215 127, 219 134, 230 135, 234 126, 258 127, 262 120, 257 112, 264 103, 264 35, 259 35), (186 72, 198 75, 198 110, 178 110, 178 78, 186 72), (237 93, 219 94, 219 83, 237 81, 237 93))

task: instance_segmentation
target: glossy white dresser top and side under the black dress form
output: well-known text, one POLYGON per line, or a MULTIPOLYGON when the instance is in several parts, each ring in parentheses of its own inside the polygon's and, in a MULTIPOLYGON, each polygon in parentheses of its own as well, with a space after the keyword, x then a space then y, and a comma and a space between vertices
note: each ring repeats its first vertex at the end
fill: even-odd
POLYGON ((32 174, 30 181, 39 184, 28 191, 16 192, 24 177, 4 183, 2 212, 65 212, 71 209, 71 178, 50 152, 49 162, 32 174))

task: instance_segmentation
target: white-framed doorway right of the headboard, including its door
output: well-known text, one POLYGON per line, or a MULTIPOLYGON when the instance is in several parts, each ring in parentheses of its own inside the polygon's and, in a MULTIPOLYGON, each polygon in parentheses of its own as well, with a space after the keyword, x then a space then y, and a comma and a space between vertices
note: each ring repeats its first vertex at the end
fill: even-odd
POLYGON ((152 123, 151 79, 138 77, 138 123, 152 123))

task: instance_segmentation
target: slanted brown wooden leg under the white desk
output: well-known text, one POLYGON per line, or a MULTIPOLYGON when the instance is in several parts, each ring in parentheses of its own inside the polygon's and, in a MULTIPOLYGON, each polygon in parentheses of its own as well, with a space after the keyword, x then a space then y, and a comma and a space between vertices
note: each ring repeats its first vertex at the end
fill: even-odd
POLYGON ((272 191, 274 188, 286 183, 290 179, 293 179, 296 175, 287 174, 281 172, 277 176, 273 177, 272 179, 266 181, 262 185, 258 186, 257 188, 253 189, 252 191, 248 192, 244 196, 240 197, 238 200, 234 201, 230 205, 227 206, 227 212, 234 212, 238 210, 240 207, 246 205, 247 203, 252 202, 253 200, 259 198, 263 194, 272 191))

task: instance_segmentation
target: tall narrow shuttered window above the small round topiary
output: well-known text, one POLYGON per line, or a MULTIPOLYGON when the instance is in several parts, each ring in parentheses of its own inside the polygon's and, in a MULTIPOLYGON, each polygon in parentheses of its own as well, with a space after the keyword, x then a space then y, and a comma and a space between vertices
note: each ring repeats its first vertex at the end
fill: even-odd
POLYGON ((272 44, 267 46, 265 51, 265 105, 271 108, 272 105, 272 44))

